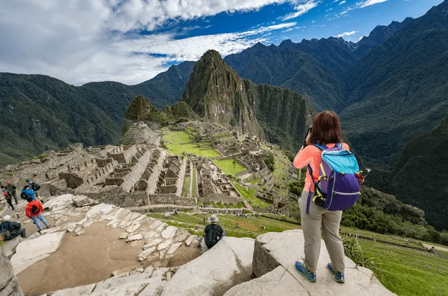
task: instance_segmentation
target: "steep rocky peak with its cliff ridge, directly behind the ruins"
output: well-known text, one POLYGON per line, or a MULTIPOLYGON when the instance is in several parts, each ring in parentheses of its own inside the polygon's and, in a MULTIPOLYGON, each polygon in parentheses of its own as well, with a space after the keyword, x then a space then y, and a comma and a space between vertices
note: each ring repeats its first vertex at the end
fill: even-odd
POLYGON ((243 80, 214 50, 196 63, 183 100, 206 120, 238 125, 288 150, 302 144, 315 114, 300 94, 243 80))

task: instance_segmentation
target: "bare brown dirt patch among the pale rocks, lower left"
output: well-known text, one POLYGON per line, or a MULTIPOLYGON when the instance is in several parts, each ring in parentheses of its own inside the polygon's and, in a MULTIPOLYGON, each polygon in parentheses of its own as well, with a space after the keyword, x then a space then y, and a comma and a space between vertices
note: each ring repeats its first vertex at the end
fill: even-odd
MULTIPOLYGON (((32 223, 31 227, 36 228, 32 223)), ((116 269, 146 268, 151 263, 158 267, 179 266, 199 255, 197 248, 182 247, 169 260, 140 265, 137 256, 144 242, 131 247, 125 240, 118 239, 121 233, 123 230, 107 228, 106 222, 94 223, 80 236, 66 233, 55 253, 18 274, 20 287, 25 295, 37 296, 109 279, 116 269)))

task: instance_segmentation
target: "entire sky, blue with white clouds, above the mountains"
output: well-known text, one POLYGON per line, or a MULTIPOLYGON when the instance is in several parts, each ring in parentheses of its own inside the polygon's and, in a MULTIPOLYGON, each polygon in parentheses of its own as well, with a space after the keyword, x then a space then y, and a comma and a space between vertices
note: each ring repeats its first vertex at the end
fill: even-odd
POLYGON ((420 17, 442 0, 0 1, 0 71, 67 83, 153 78, 169 65, 256 42, 342 36, 420 17))

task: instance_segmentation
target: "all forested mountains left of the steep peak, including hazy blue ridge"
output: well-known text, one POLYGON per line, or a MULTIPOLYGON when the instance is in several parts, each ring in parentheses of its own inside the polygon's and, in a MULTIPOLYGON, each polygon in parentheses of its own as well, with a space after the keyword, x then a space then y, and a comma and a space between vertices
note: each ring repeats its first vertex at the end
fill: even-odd
POLYGON ((142 94, 158 108, 174 104, 194 64, 171 66, 139 85, 108 81, 74 87, 49 76, 0 73, 0 165, 74 142, 116 143, 130 101, 142 94))

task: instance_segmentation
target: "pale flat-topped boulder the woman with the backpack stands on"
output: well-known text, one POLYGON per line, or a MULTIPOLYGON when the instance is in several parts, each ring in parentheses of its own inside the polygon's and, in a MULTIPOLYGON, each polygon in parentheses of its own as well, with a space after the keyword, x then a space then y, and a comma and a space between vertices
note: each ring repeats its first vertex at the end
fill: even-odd
POLYGON ((373 272, 356 267, 346 258, 346 283, 335 281, 326 265, 330 257, 321 241, 316 283, 309 283, 295 269, 295 261, 304 254, 302 230, 269 232, 255 240, 253 273, 258 279, 235 286, 225 296, 237 295, 394 295, 379 283, 373 272), (275 292, 274 292, 275 291, 275 292))

